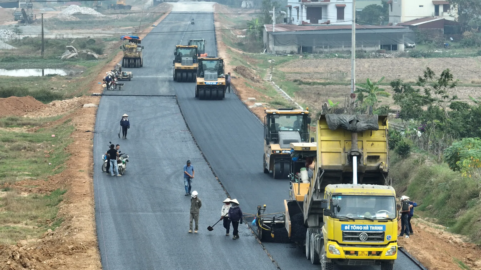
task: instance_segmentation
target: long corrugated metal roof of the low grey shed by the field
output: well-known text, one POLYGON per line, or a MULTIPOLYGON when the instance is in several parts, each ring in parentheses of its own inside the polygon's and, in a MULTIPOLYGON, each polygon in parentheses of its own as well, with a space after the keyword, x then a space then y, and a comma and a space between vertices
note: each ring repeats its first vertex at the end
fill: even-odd
MULTIPOLYGON (((272 32, 272 25, 264 25, 267 32, 272 32)), ((356 25, 357 29, 405 29, 405 26, 387 26, 387 25, 356 25)), ((275 32, 292 32, 292 31, 313 31, 313 30, 351 30, 352 25, 285 25, 276 24, 275 32)))

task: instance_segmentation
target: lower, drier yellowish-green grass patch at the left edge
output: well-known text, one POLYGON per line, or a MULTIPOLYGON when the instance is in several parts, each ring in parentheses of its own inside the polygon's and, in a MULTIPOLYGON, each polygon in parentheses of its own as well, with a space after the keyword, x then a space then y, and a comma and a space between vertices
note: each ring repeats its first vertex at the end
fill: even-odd
POLYGON ((0 198, 0 207, 3 209, 0 213, 0 244, 12 245, 60 226, 63 219, 57 219, 56 216, 65 192, 57 189, 48 195, 22 196, 10 191, 7 196, 0 198))

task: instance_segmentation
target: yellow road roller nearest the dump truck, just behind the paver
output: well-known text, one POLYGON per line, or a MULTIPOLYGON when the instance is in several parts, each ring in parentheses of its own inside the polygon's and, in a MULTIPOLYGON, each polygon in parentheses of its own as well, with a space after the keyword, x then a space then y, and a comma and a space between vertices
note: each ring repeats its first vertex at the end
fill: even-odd
MULTIPOLYGON (((308 110, 292 108, 264 110, 264 173, 272 171, 275 179, 291 173, 291 143, 309 142, 308 110)), ((312 139, 314 141, 314 138, 312 139)))

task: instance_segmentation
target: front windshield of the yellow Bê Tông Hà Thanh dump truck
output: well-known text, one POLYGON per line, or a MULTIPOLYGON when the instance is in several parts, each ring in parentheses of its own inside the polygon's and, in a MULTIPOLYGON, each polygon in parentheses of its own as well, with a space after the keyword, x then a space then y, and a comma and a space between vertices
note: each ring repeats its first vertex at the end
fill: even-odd
POLYGON ((394 219, 394 196, 332 195, 333 213, 354 219, 394 219))

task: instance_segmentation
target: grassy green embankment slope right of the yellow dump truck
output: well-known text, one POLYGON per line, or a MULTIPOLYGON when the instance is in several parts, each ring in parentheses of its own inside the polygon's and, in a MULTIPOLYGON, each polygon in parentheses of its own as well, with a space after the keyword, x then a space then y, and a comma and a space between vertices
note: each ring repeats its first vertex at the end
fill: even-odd
POLYGON ((447 164, 413 154, 406 160, 392 160, 390 176, 397 195, 418 203, 421 216, 437 218, 453 233, 467 235, 481 243, 480 190, 469 178, 451 171, 447 164), (426 160, 420 162, 420 160, 426 160))

